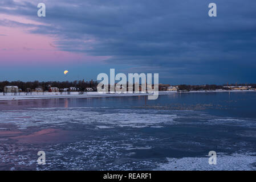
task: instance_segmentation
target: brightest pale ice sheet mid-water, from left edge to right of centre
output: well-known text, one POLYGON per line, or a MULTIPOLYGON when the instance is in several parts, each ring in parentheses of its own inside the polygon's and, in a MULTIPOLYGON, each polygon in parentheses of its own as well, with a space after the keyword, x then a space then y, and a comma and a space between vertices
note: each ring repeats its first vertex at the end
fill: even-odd
POLYGON ((176 124, 176 114, 157 114, 150 110, 79 108, 47 108, 0 111, 0 122, 13 123, 19 129, 30 126, 60 126, 63 123, 91 124, 100 129, 109 127, 151 127, 176 124))

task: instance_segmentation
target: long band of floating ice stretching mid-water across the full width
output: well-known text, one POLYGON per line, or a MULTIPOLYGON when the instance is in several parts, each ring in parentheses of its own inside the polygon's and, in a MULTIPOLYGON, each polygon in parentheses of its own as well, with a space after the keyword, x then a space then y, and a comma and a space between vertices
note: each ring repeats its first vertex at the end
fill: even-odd
POLYGON ((66 123, 91 124, 98 129, 162 127, 179 123, 256 127, 256 121, 251 119, 216 117, 198 111, 113 109, 108 107, 52 107, 0 111, 0 122, 14 123, 19 129, 26 129, 30 126, 62 126, 66 123), (180 118, 179 121, 177 118, 180 118))

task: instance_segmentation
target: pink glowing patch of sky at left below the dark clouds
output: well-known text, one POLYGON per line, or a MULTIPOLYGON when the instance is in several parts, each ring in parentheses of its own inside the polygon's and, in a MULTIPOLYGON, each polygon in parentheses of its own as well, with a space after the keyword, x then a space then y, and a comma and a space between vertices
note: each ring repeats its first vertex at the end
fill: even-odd
POLYGON ((61 51, 55 46, 57 40, 51 36, 30 34, 25 28, 0 26, 0 63, 74 63, 107 59, 106 56, 88 56, 85 53, 61 51))

